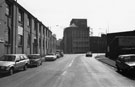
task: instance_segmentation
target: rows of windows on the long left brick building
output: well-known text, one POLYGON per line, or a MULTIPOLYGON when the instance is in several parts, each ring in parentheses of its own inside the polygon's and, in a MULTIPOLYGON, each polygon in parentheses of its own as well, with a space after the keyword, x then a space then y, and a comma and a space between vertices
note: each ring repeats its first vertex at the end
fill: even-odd
MULTIPOLYGON (((13 17, 13 5, 12 4, 9 4, 9 3, 6 4, 6 13, 5 14, 7 16, 8 24, 11 23, 12 20, 13 20, 13 18, 12 18, 13 17)), ((18 9, 18 12, 16 14, 18 14, 18 33, 17 33, 18 37, 17 37, 17 41, 18 41, 18 46, 22 46, 23 45, 23 38, 24 38, 24 36, 23 36, 23 32, 24 32, 24 12, 23 12, 23 10, 18 9)), ((27 24, 28 28, 31 29, 32 17, 30 15, 27 16, 27 23, 26 24, 27 24)), ((12 24, 9 24, 9 25, 12 25, 12 24)), ((41 26, 42 26, 42 24, 39 24, 39 34, 40 34, 40 36, 41 36, 41 33, 42 33, 41 26)), ((11 29, 12 29, 12 27, 8 26, 7 32, 5 33, 5 35, 7 37, 6 43, 8 43, 8 44, 11 44, 11 36, 12 36, 12 34, 11 34, 12 30, 11 29)), ((37 29, 38 29, 38 21, 35 20, 34 21, 34 30, 35 30, 35 32, 37 32, 37 29)), ((44 27, 43 27, 43 36, 48 36, 49 37, 49 34, 51 34, 51 33, 49 33, 47 31, 47 29, 44 29, 44 27)), ((36 33, 36 36, 37 35, 38 34, 36 33)), ((31 39, 31 36, 30 36, 30 33, 28 33, 28 39, 27 39, 27 44, 28 44, 27 47, 28 48, 30 47, 30 41, 31 41, 30 39, 31 39)))

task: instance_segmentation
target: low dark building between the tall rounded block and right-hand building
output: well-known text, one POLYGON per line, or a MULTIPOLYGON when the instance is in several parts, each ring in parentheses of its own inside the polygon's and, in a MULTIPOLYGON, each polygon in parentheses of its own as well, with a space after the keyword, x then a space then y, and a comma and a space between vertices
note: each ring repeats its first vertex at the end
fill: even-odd
POLYGON ((99 36, 90 36, 90 51, 93 53, 105 53, 107 48, 106 35, 102 34, 99 36))

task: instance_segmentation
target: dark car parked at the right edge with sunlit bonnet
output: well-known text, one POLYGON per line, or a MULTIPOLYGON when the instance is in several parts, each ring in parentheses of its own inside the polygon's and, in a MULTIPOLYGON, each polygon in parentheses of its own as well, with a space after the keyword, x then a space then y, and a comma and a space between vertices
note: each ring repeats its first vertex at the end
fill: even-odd
POLYGON ((120 55, 116 67, 118 71, 135 71, 135 54, 120 55))

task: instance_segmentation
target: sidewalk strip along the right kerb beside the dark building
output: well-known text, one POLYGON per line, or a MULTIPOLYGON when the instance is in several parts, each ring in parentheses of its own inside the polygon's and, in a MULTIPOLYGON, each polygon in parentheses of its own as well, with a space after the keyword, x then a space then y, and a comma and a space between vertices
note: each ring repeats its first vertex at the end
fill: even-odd
POLYGON ((109 59, 109 58, 107 58, 107 57, 105 57, 105 55, 98 55, 98 56, 96 56, 95 58, 96 58, 97 60, 99 60, 99 61, 105 63, 105 64, 108 64, 108 65, 110 65, 110 66, 116 68, 115 61, 114 61, 114 60, 111 60, 111 59, 109 59))

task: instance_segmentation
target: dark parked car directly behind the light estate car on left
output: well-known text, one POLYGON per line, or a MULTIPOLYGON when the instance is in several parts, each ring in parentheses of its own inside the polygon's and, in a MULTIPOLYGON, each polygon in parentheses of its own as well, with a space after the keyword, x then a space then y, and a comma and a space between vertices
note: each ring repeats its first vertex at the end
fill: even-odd
POLYGON ((44 58, 40 54, 29 54, 28 58, 30 59, 30 66, 40 66, 44 61, 44 58))

